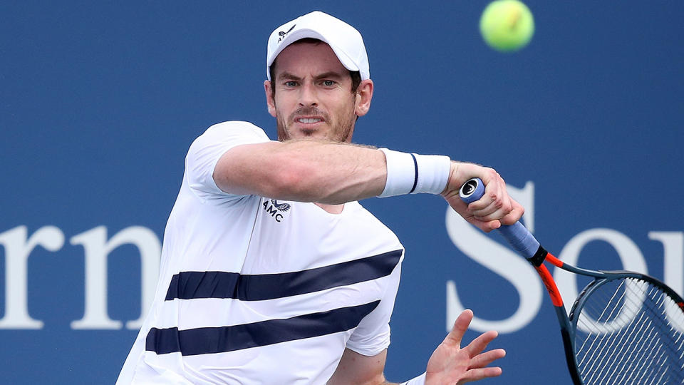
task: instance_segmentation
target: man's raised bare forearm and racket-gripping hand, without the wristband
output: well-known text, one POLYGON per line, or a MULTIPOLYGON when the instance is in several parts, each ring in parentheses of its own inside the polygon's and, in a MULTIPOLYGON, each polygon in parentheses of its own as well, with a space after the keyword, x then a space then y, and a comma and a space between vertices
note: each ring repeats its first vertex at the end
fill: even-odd
MULTIPOLYGON (((226 193, 335 205, 380 195, 388 173, 385 154, 375 148, 292 140, 234 147, 219 159, 213 177, 226 193)), ((487 232, 501 222, 514 223, 523 212, 508 196, 496 171, 472 163, 451 163, 442 196, 466 220, 487 232), (484 182, 485 195, 467 206, 458 198, 458 189, 475 177, 484 182)))

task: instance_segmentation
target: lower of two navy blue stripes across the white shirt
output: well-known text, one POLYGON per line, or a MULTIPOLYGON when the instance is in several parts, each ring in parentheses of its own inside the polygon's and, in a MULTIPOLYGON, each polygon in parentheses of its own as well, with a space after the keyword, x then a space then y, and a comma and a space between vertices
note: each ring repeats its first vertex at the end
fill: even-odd
POLYGON ((264 347, 327 334, 346 332, 358 326, 363 317, 373 312, 380 301, 328 312, 304 314, 288 319, 269 319, 229 327, 201 327, 178 330, 152 328, 147 332, 145 350, 157 354, 180 351, 183 356, 223 353, 264 347))

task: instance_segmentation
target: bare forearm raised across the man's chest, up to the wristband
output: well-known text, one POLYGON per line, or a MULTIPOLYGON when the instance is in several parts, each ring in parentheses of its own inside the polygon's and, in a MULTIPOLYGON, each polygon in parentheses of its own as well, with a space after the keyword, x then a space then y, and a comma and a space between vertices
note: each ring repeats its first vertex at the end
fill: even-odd
POLYGON ((227 193, 328 204, 380 195, 386 176, 380 150, 314 140, 242 145, 214 169, 227 193))

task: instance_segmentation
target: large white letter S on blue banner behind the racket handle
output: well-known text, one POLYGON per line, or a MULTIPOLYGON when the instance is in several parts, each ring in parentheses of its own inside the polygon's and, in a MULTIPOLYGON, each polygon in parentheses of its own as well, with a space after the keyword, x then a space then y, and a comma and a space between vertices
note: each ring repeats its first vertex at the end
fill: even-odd
MULTIPOLYGON (((507 190, 525 207, 524 224, 534 232, 534 183, 527 182, 522 189, 507 185, 507 190)), ((490 239, 470 225, 451 207, 447 207, 446 225, 449 237, 461 252, 510 282, 520 298, 518 309, 512 316, 497 321, 474 317, 470 328, 479 332, 497 330, 499 333, 512 333, 529 324, 539 312, 542 301, 541 284, 532 265, 509 247, 490 239)), ((472 299, 472 302, 478 300, 472 299)), ((447 281, 447 331, 451 330, 456 317, 464 309, 455 282, 447 281)))

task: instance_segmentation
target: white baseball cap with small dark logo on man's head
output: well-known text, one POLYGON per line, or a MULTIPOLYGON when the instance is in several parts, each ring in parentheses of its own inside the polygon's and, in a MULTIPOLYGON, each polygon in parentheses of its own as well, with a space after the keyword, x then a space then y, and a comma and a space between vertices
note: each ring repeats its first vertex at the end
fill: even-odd
POLYGON ((276 28, 269 37, 268 52, 266 53, 266 76, 271 80, 271 64, 276 56, 295 41, 313 38, 328 43, 333 48, 338 59, 349 71, 359 71, 361 80, 371 78, 368 66, 368 54, 363 45, 361 34, 353 26, 340 19, 313 11, 299 16, 276 28))

